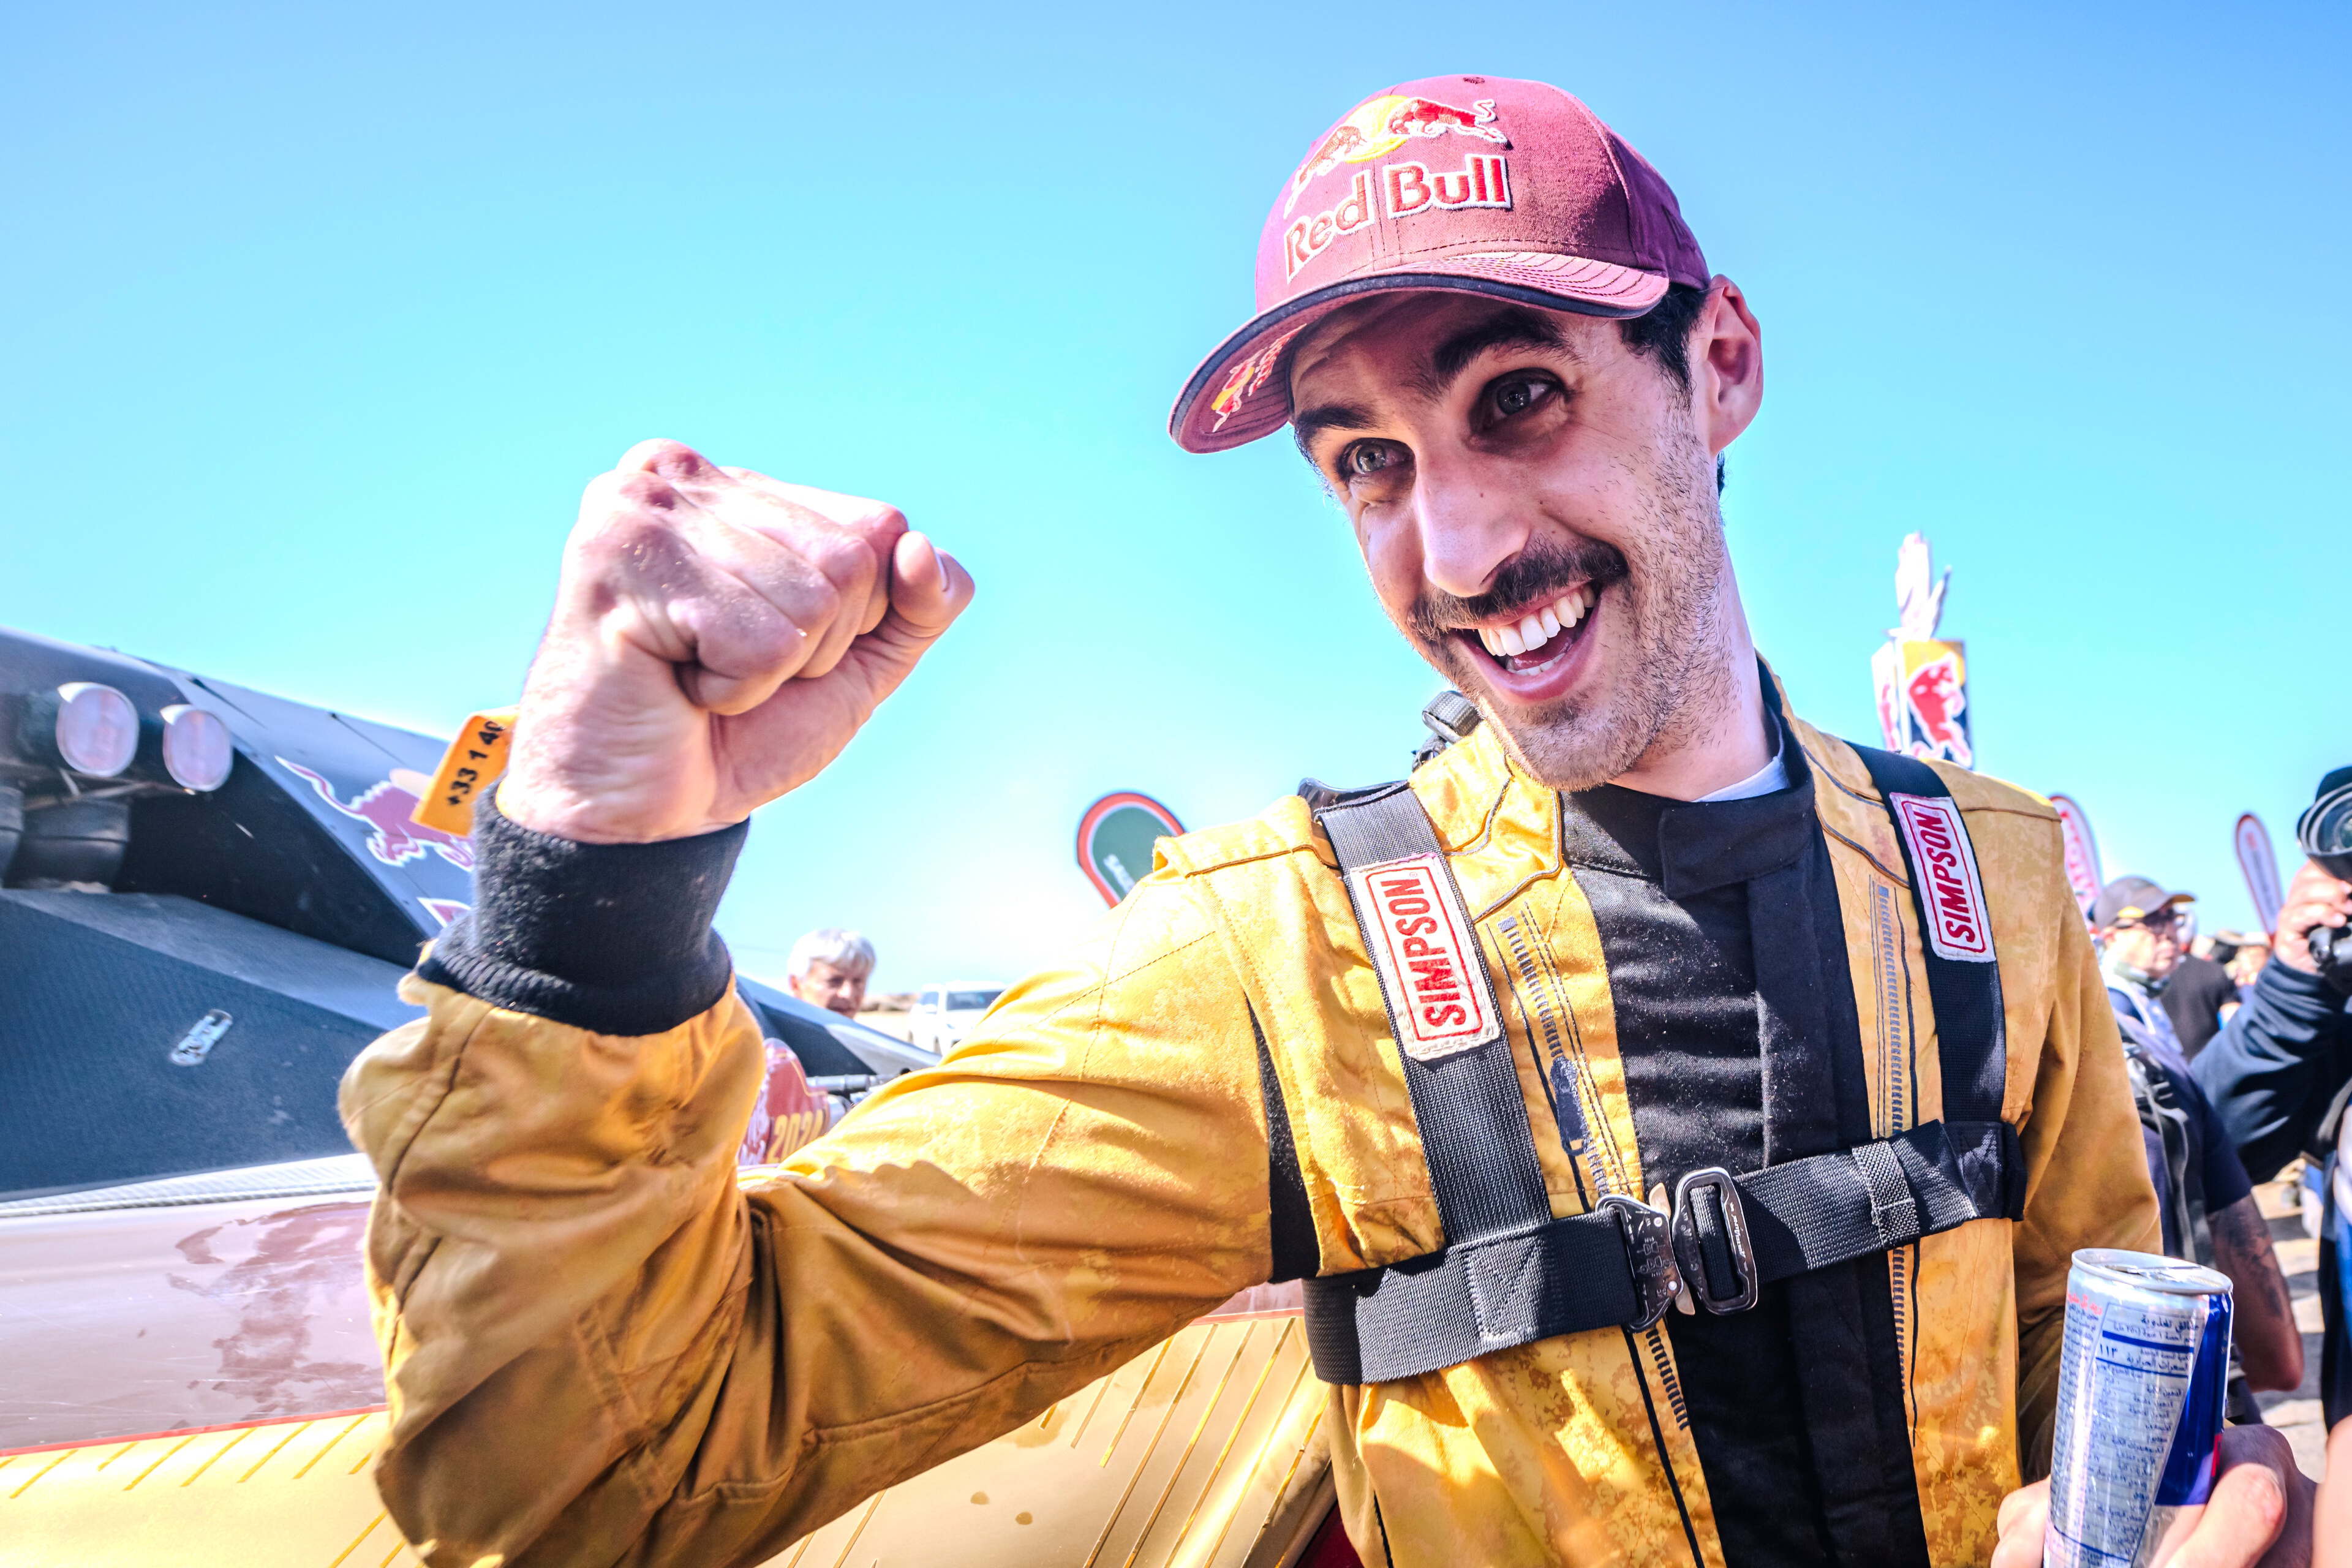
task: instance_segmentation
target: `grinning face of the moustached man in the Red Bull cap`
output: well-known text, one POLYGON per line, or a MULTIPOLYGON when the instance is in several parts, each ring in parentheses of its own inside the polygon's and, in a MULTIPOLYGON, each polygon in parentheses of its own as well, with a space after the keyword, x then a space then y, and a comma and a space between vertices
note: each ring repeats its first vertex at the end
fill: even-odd
POLYGON ((1298 444, 1390 621, 1552 788, 1616 778, 1731 703, 1745 623, 1715 451, 1752 397, 1729 433, 1708 402, 1722 303, 1696 393, 1613 320, 1465 294, 1364 301, 1291 360, 1298 444))

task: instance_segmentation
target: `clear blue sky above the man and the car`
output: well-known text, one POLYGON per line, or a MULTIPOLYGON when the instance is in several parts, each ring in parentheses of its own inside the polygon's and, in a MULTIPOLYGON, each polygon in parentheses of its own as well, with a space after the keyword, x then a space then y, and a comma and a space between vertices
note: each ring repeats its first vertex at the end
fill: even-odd
POLYGON ((976 609, 762 813, 776 971, 1014 976, 1115 788, 1404 766, 1432 675, 1287 442, 1162 433, 1355 99, 1585 96, 1766 331, 1726 522, 1872 733, 1905 531, 1987 771, 2249 917, 2230 823, 2352 759, 2343 7, 38 7, 0 61, 0 623, 447 731, 510 701, 647 435, 884 496, 976 609), (1639 26, 1635 21, 1639 19, 1639 26))

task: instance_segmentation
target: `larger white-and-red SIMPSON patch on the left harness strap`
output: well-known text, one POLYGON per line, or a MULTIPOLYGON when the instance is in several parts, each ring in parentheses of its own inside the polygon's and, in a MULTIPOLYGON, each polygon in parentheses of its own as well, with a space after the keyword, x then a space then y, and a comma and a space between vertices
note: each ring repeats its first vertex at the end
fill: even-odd
POLYGON ((1486 961, 1442 856, 1411 856, 1350 875, 1371 964, 1381 971, 1397 1046, 1421 1063, 1503 1034, 1486 961))

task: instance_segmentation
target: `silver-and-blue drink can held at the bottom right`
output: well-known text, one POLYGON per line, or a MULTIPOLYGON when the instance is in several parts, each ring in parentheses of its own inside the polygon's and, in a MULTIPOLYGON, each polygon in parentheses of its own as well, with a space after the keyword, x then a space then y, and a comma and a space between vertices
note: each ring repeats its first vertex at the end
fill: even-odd
POLYGON ((2049 1568, 2157 1568, 2213 1493, 2230 1276, 2084 1248, 2065 1276, 2049 1568))

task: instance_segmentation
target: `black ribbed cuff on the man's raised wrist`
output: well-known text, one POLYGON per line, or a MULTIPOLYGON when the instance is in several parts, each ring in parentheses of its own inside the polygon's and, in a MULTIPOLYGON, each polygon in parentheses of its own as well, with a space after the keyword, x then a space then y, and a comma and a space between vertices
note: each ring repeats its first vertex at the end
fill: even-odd
POLYGON ((579 844, 473 811, 470 914, 419 978, 597 1034, 659 1034, 727 994, 710 929, 748 823, 659 844, 579 844))

